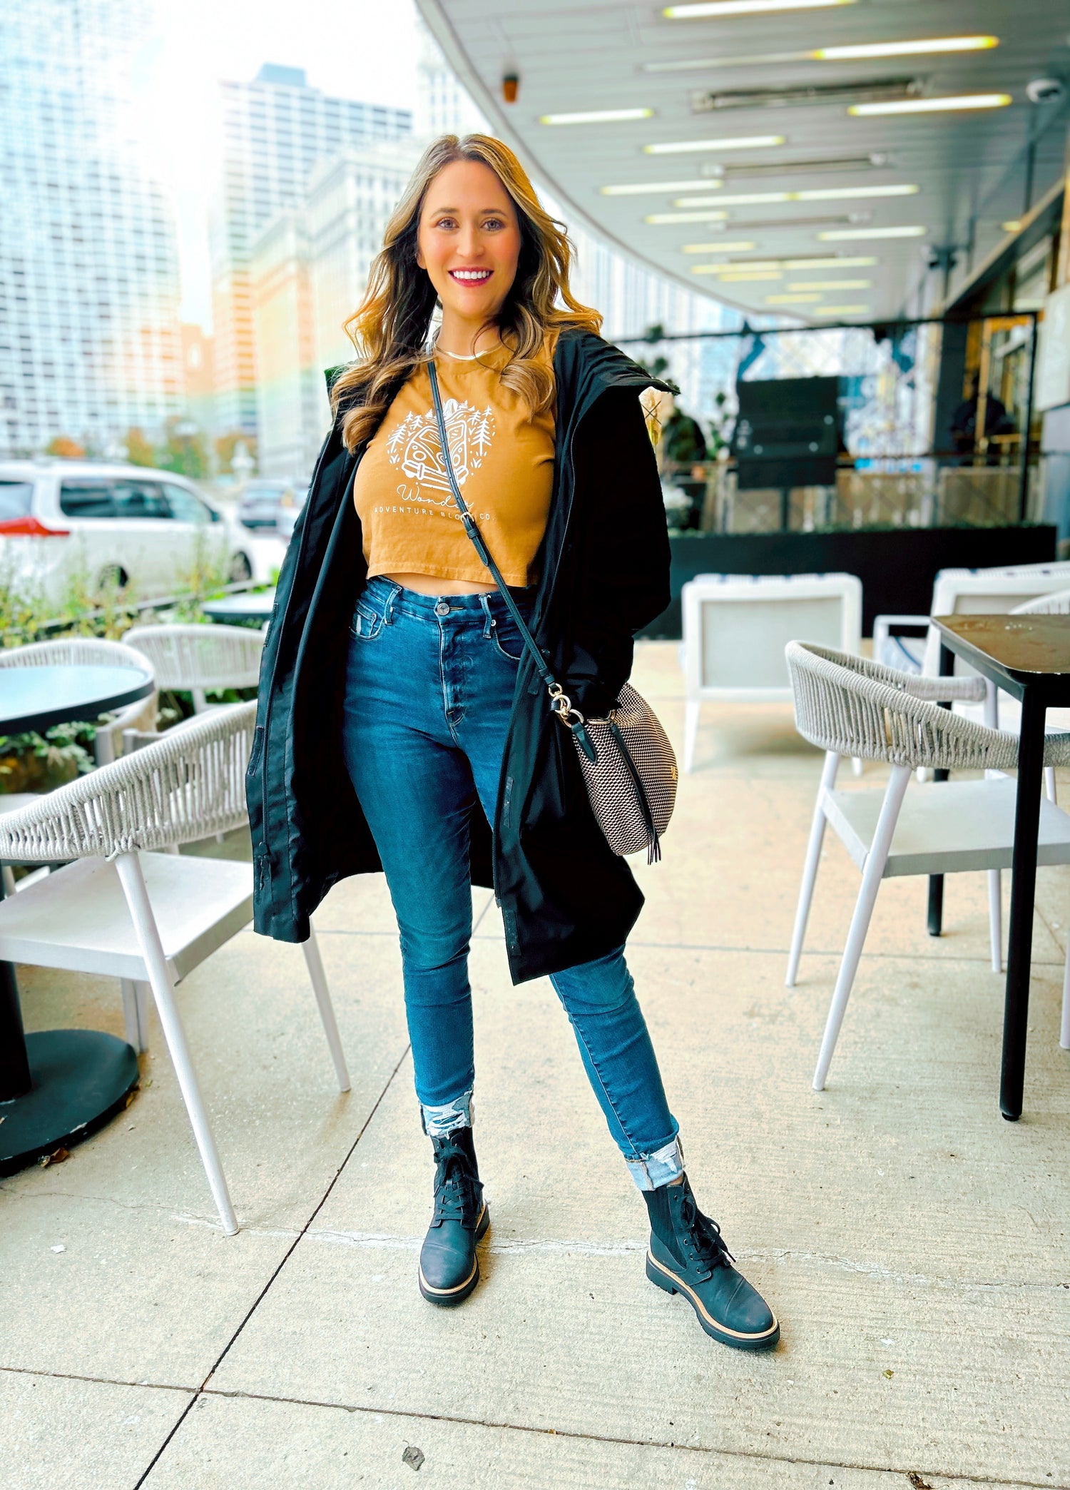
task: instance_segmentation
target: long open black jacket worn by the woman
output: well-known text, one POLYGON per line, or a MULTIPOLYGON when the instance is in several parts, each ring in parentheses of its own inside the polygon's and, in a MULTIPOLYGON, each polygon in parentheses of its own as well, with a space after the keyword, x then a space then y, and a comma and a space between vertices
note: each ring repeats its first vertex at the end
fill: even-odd
MULTIPOLYGON (((669 539, 639 393, 665 384, 590 332, 554 355, 556 462, 532 632, 583 714, 604 714, 632 669, 632 638, 669 603, 669 539)), ((304 942, 347 875, 382 870, 341 754, 361 520, 340 426, 328 435, 279 577, 264 645, 247 797, 256 931, 304 942)), ((587 802, 575 745, 525 654, 493 836, 471 817, 471 872, 502 907, 516 983, 621 946, 642 906, 587 802)))

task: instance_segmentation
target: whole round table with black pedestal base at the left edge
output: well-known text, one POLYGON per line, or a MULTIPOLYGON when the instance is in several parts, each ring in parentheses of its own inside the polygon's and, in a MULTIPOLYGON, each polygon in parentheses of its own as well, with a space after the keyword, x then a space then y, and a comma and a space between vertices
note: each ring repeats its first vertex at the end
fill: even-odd
MULTIPOLYGON (((140 668, 0 668, 0 735, 95 720, 153 687, 140 668)), ((113 1034, 24 1034, 15 968, 0 963, 0 1176, 80 1143, 125 1107, 136 1083, 137 1055, 113 1034)))

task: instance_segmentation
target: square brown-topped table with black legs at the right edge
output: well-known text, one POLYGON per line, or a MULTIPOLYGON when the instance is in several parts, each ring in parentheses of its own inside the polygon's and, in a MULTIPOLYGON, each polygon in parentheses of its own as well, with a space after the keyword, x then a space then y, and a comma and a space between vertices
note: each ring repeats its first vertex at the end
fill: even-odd
POLYGON ((1025 1077, 1045 715, 1070 705, 1070 615, 934 615, 933 623, 942 675, 954 654, 1022 705, 1000 1074, 1000 1112, 1015 1122, 1025 1077))

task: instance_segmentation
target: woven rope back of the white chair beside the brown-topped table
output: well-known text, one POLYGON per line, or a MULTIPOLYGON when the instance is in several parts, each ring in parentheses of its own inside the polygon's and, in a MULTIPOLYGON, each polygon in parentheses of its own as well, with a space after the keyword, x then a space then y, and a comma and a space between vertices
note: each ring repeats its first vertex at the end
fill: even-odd
POLYGON ((918 682, 911 673, 814 642, 788 642, 784 651, 796 726, 811 745, 943 770, 1006 770, 1018 763, 1016 736, 918 699, 909 691, 918 682))

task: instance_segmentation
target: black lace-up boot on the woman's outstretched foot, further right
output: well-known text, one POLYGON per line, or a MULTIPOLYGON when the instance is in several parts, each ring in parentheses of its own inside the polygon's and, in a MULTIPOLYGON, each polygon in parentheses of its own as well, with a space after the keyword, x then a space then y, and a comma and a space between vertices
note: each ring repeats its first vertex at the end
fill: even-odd
POLYGON ((647 1277, 666 1293, 683 1293, 714 1340, 738 1350, 770 1350, 781 1338, 776 1316, 732 1266, 721 1228, 699 1210, 687 1176, 680 1185, 644 1191, 650 1211, 647 1277))

